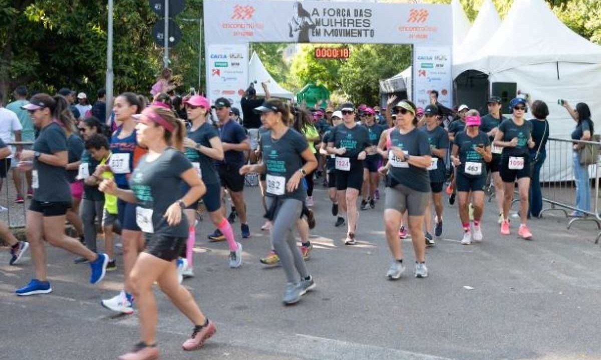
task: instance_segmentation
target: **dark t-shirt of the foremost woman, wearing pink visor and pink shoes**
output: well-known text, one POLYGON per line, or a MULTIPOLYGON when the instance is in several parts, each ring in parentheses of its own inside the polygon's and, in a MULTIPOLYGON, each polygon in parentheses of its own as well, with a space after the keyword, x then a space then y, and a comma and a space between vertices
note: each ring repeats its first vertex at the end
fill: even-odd
MULTIPOLYGON (((180 200, 180 191, 172 190, 180 188, 182 173, 191 169, 192 163, 174 148, 165 149, 153 161, 147 161, 147 158, 148 154, 138 161, 138 166, 129 179, 129 186, 138 199, 138 208, 142 208, 137 209, 136 218, 141 218, 142 212, 146 218, 150 218, 148 209, 151 209, 154 234, 175 238, 188 237, 188 220, 183 211, 182 221, 175 226, 169 226, 163 215, 169 206, 180 200)), ((148 233, 145 229, 142 231, 148 233)))

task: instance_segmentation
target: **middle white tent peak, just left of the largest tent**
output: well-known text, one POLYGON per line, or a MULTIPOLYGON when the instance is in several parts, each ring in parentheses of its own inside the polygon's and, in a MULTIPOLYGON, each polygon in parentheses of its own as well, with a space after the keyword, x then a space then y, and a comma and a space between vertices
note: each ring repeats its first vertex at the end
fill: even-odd
MULTIPOLYGON (((468 62, 473 59, 474 54, 480 53, 480 50, 488 43, 490 36, 495 34, 499 26, 501 26, 501 18, 495 5, 492 0, 484 0, 465 40, 459 47, 454 48, 453 62, 468 62)), ((455 76, 457 75, 459 74, 455 74, 455 76)))

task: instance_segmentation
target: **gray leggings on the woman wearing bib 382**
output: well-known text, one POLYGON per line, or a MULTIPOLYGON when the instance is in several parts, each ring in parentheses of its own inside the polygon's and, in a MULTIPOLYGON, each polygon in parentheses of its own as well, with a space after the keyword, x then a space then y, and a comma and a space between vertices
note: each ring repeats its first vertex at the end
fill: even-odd
MULTIPOLYGON (((273 198, 266 196, 267 208, 269 209, 273 198)), ((283 199, 275 211, 273 227, 271 229, 271 243, 279 256, 282 268, 286 272, 288 283, 297 283, 294 268, 302 278, 309 276, 305 262, 302 259, 301 250, 296 246, 296 240, 292 236, 292 229, 296 227, 296 221, 301 217, 302 201, 297 199, 283 199)))

